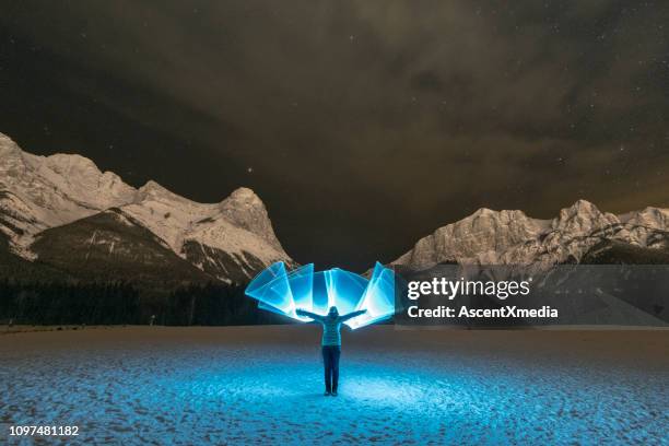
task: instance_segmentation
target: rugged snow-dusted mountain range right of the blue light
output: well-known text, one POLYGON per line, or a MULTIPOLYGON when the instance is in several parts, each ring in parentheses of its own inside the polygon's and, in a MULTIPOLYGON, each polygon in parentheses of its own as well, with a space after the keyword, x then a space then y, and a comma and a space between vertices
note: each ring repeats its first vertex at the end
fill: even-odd
POLYGON ((437 263, 536 265, 578 262, 602 242, 641 248, 665 248, 669 210, 646 208, 614 215, 578 200, 553 220, 521 211, 480 209, 436 230, 392 263, 423 270, 437 263))

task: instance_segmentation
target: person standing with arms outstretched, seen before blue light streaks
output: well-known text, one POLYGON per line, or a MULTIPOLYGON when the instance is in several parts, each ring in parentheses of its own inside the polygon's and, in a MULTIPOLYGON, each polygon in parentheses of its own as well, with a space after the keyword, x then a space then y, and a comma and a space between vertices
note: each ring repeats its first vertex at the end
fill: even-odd
POLYGON ((336 306, 330 307, 326 316, 317 315, 304 309, 297 309, 295 313, 300 316, 310 317, 312 319, 322 325, 322 365, 325 367, 326 391, 325 396, 336 397, 337 386, 339 384, 339 355, 341 354, 341 325, 360 316, 366 309, 349 313, 348 315, 339 316, 339 310, 336 306))

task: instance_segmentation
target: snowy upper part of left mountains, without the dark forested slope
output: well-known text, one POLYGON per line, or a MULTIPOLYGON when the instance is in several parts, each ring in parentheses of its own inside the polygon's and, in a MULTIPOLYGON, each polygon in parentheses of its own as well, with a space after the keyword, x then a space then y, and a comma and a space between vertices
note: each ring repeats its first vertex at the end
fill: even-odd
POLYGON ((278 260, 292 262, 250 189, 198 203, 155 181, 134 189, 80 155, 26 153, 0 133, 0 232, 14 254, 34 260, 39 234, 111 208, 117 220, 142 225, 176 256, 225 282, 243 282, 278 260))

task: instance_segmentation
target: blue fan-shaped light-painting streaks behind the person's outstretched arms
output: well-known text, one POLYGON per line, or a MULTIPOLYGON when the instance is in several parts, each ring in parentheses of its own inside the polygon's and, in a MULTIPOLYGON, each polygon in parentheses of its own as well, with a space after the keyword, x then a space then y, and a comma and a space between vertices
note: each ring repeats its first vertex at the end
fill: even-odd
POLYGON ((367 313, 344 322, 356 329, 395 314, 395 273, 379 262, 369 280, 340 268, 314 272, 313 263, 289 273, 279 261, 260 272, 246 294, 258 301, 258 308, 300 321, 310 318, 297 316, 297 308, 318 315, 326 315, 331 306, 340 315, 366 309, 367 313))

